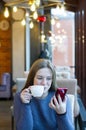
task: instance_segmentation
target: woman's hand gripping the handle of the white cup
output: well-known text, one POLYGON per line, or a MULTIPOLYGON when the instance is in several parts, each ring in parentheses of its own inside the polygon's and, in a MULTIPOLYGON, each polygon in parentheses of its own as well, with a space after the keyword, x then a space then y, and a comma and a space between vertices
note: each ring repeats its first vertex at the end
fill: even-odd
POLYGON ((30 89, 26 88, 20 93, 20 98, 23 103, 29 103, 32 99, 32 94, 30 93, 30 89))

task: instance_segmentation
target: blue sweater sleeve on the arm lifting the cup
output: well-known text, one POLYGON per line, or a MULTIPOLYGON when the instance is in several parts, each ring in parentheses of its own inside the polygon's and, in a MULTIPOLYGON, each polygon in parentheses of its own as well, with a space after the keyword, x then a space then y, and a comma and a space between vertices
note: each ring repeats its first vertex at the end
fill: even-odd
POLYGON ((22 103, 20 93, 14 97, 14 119, 16 130, 32 130, 33 119, 29 104, 22 103))

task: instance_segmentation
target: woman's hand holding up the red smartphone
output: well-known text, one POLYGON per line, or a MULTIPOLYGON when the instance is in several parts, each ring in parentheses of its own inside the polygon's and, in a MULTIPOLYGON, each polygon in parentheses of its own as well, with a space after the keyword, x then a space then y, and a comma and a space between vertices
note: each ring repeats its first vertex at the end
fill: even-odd
POLYGON ((57 114, 64 114, 66 113, 66 96, 65 99, 62 101, 60 95, 58 95, 58 101, 55 96, 51 98, 51 101, 49 103, 50 108, 54 109, 57 114))

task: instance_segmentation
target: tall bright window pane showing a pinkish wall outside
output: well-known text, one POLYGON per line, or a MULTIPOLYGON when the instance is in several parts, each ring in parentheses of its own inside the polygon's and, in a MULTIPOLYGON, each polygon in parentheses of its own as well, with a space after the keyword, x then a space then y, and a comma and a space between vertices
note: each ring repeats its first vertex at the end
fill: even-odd
MULTIPOLYGON (((51 10, 52 23, 52 62, 56 66, 75 66, 74 13, 64 11, 60 14, 51 10)), ((73 70, 74 71, 74 70, 73 70)))

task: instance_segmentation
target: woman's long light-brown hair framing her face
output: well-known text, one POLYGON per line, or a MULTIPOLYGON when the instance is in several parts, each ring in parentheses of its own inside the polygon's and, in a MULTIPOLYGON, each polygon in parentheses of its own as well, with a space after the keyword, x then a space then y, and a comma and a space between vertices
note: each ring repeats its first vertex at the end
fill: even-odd
POLYGON ((52 84, 51 84, 50 90, 55 90, 56 85, 57 85, 55 67, 51 63, 51 61, 47 60, 47 59, 38 59, 33 63, 32 67, 29 71, 26 84, 23 89, 28 88, 29 86, 33 85, 34 77, 35 77, 37 71, 42 68, 49 68, 51 70, 52 84))

